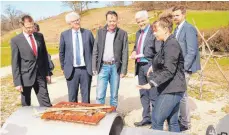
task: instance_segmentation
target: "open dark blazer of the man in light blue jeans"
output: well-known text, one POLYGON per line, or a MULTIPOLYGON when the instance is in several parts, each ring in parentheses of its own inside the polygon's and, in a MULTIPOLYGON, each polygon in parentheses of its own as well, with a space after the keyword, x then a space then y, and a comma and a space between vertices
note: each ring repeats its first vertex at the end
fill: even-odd
MULTIPOLYGON (((93 60, 92 70, 100 72, 103 62, 104 46, 107 34, 107 26, 97 31, 94 48, 93 48, 93 60)), ((127 74, 128 66, 128 35, 127 32, 116 28, 114 37, 114 58, 117 67, 117 72, 120 74, 127 74)))

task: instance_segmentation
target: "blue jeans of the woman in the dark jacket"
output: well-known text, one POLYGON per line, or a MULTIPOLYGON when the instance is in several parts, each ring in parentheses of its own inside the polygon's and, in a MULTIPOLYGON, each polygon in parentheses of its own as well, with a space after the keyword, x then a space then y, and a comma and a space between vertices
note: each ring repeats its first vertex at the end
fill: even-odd
POLYGON ((161 94, 158 96, 152 112, 152 128, 163 130, 164 121, 167 119, 169 131, 180 132, 178 112, 180 100, 184 93, 161 94))

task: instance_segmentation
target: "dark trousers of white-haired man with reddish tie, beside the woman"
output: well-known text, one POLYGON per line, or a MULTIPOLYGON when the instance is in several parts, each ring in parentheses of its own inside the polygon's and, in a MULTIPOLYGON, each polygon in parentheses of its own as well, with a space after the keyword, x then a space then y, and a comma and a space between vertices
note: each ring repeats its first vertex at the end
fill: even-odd
MULTIPOLYGON (((149 67, 150 67, 150 64, 148 63, 138 63, 137 71, 138 71, 139 85, 145 85, 148 83, 147 72, 148 72, 149 67)), ((141 99, 141 104, 143 107, 143 112, 142 112, 142 118, 143 118, 142 121, 143 122, 151 121, 150 106, 153 109, 157 96, 158 96, 157 88, 152 88, 151 90, 140 89, 140 99, 141 99)))

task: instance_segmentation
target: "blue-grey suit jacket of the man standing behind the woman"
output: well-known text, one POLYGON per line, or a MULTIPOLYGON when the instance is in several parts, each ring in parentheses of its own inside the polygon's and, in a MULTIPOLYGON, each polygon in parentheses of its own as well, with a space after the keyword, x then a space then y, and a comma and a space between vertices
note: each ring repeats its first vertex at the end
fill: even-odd
POLYGON ((177 40, 183 52, 185 71, 195 73, 200 70, 200 54, 196 29, 185 21, 177 35, 177 40))

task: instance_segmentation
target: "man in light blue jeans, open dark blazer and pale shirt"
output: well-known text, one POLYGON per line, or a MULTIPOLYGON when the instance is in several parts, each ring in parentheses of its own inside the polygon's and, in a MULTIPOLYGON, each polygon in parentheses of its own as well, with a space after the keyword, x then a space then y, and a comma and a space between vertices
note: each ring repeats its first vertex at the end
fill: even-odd
POLYGON ((118 105, 120 78, 127 74, 128 35, 117 27, 118 15, 115 11, 106 14, 107 25, 97 32, 94 48, 92 70, 98 73, 96 102, 105 104, 108 82, 110 83, 110 105, 118 105))

